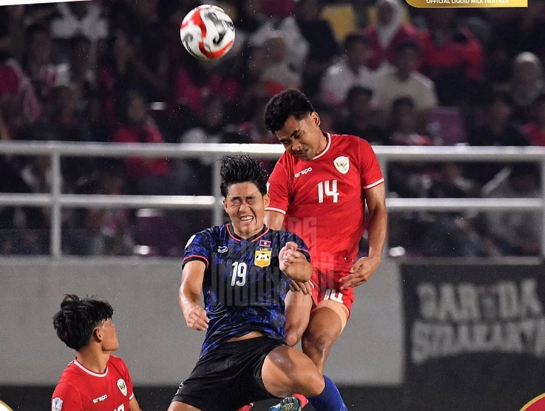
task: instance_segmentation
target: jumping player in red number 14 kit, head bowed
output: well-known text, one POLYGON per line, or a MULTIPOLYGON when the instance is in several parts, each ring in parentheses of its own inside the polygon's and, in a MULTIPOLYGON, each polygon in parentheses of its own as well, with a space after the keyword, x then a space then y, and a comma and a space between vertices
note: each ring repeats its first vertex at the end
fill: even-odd
POLYGON ((294 284, 302 292, 286 297, 286 340, 294 345, 302 337, 303 351, 323 372, 350 316, 353 288, 365 283, 381 262, 387 220, 384 178, 371 145, 359 137, 322 132, 318 113, 299 90, 272 97, 265 124, 286 148, 269 177, 265 223, 299 235, 310 247, 313 266, 308 283, 294 284), (368 256, 357 260, 366 229, 368 256))

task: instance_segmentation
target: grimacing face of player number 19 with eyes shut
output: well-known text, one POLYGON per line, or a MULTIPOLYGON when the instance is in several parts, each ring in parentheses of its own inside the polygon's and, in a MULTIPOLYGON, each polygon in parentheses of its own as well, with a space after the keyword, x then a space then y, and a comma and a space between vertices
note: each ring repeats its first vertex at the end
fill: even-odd
POLYGON ((263 229, 265 207, 269 194, 261 194, 254 183, 235 183, 228 187, 223 208, 233 223, 235 233, 243 238, 256 235, 263 229))

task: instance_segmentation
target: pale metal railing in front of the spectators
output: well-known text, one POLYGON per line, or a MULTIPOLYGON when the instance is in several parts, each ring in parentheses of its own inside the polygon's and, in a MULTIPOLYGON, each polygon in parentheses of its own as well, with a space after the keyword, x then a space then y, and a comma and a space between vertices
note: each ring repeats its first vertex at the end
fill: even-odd
MULTIPOLYGON (((541 198, 431 199, 387 198, 389 211, 453 210, 545 210, 545 147, 469 146, 374 146, 381 168, 398 162, 536 162, 541 166, 541 198)), ((61 253, 61 218, 64 207, 101 206, 108 208, 156 207, 213 210, 214 224, 223 220, 220 193, 220 162, 223 155, 245 152, 260 159, 276 160, 284 148, 280 144, 146 144, 146 143, 60 143, 0 142, 0 155, 51 156, 52 188, 49 194, 2 194, 0 206, 49 206, 51 208, 51 255, 61 253), (60 192, 61 157, 168 157, 199 158, 213 164, 211 195, 76 195, 60 192)), ((2 178, 2 176, 0 176, 2 178)), ((545 212, 542 213, 541 254, 545 255, 545 212)))

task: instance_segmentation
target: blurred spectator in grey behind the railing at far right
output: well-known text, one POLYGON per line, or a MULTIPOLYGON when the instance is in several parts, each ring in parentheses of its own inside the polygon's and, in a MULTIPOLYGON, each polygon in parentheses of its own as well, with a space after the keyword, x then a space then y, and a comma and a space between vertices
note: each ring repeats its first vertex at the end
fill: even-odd
MULTIPOLYGON (((516 163, 483 187, 487 198, 540 198, 537 169, 534 164, 516 163)), ((542 212, 492 210, 485 213, 491 255, 539 255, 542 212)))

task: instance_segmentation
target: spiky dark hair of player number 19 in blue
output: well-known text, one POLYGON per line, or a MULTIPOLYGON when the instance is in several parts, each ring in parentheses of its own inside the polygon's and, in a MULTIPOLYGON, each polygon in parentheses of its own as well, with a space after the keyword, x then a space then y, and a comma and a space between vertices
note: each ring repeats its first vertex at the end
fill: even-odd
POLYGON ((224 156, 221 160, 220 175, 223 198, 227 198, 229 186, 244 182, 254 183, 261 194, 267 194, 267 171, 261 163, 247 154, 224 156))

